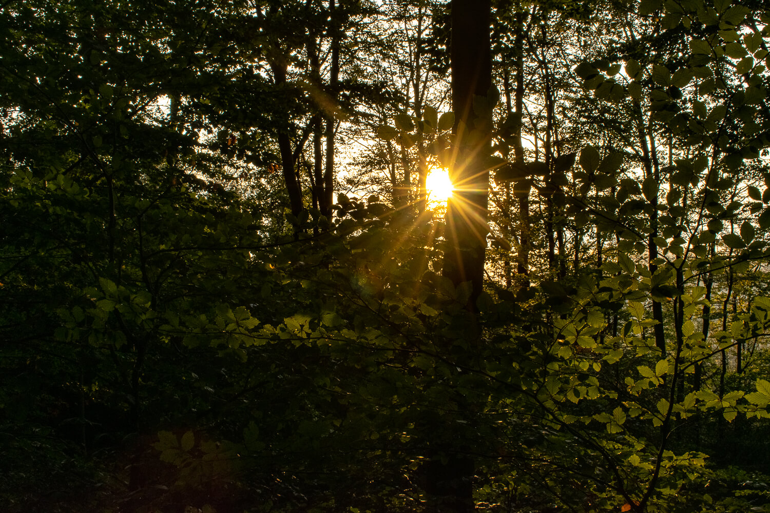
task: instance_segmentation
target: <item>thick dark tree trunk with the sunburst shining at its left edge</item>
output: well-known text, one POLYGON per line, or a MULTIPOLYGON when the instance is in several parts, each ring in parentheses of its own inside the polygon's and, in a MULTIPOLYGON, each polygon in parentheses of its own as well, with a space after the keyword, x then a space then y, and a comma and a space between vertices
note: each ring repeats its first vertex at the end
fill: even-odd
MULTIPOLYGON (((490 152, 491 120, 490 116, 474 112, 474 96, 486 97, 492 85, 490 10, 490 0, 452 0, 451 3, 450 56, 457 161, 450 168, 456 192, 447 202, 444 275, 454 285, 470 281, 472 292, 467 303, 470 311, 475 311, 476 299, 482 291, 487 247, 489 170, 484 160, 490 152)), ((465 415, 469 406, 459 405, 458 415, 465 415)), ((444 425, 443 434, 454 429, 454 423, 444 425)), ((474 511, 474 460, 468 456, 472 443, 444 439, 434 445, 447 457, 431 455, 423 467, 430 511, 474 511)))

